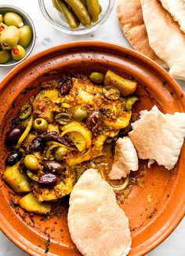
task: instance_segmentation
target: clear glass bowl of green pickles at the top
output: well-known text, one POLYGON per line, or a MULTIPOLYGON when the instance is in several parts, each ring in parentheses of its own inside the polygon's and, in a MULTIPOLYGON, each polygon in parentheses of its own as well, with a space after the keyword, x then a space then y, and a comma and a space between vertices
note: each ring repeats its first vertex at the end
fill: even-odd
POLYGON ((83 35, 110 16, 114 0, 38 0, 42 14, 61 32, 83 35))

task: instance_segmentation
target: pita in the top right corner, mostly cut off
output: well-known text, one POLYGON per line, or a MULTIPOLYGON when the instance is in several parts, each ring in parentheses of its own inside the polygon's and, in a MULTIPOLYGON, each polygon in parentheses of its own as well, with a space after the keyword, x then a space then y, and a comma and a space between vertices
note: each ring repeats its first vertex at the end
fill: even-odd
POLYGON ((169 11, 173 19, 180 24, 180 29, 185 32, 185 1, 184 0, 159 0, 162 6, 169 11))

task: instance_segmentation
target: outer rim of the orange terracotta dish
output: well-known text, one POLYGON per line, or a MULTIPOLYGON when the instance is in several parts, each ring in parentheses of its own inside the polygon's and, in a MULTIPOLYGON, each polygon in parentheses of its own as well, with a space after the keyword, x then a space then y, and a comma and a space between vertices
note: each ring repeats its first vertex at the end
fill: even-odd
MULTIPOLYGON (((12 71, 10 71, 5 78, 2 80, 2 82, 0 83, 0 90, 2 90, 2 88, 5 86, 5 83, 8 83, 8 81, 11 79, 11 77, 13 77, 14 75, 16 75, 16 73, 18 71, 20 71, 21 69, 25 68, 26 66, 30 65, 31 62, 33 61, 37 61, 40 58, 45 57, 46 55, 52 53, 52 52, 57 52, 58 50, 68 50, 70 48, 77 48, 77 47, 82 47, 82 46, 86 46, 86 47, 104 47, 104 48, 109 48, 109 49, 114 49, 114 50, 119 50, 121 52, 123 52, 124 54, 129 54, 132 55, 135 58, 138 58, 142 61, 144 61, 147 65, 150 65, 151 67, 153 67, 157 72, 160 72, 161 75, 165 76, 167 80, 169 80, 169 83, 172 84, 172 87, 174 88, 174 90, 176 91, 178 96, 185 96, 185 93, 182 91, 182 89, 180 88, 179 84, 176 83, 176 80, 174 80, 167 71, 165 71, 165 69, 162 69, 160 67, 160 65, 158 65, 156 62, 152 61, 150 58, 147 58, 147 56, 138 53, 136 50, 132 50, 129 49, 128 47, 125 46, 121 46, 118 44, 113 44, 113 43, 105 43, 102 41, 78 41, 78 42, 71 42, 71 43, 65 43, 63 45, 59 45, 59 46, 53 46, 47 50, 42 50, 40 52, 38 52, 37 54, 34 54, 33 56, 27 58, 26 60, 24 60, 23 62, 21 62, 19 65, 17 65, 14 69, 12 69, 12 71)), ((185 106, 185 101, 184 102, 184 106, 185 106)), ((170 219, 168 221, 168 224, 165 224, 165 226, 163 226, 163 228, 161 228, 160 230, 158 230, 158 233, 156 236, 152 236, 150 239, 148 239, 145 242, 145 247, 140 247, 140 251, 136 250, 134 252, 134 256, 140 256, 143 254, 147 254, 148 252, 150 252, 151 250, 153 250, 155 247, 158 247, 158 245, 160 243, 162 243, 172 232, 173 230, 177 227, 178 224, 180 224, 180 221, 183 219, 185 215, 185 191, 181 197, 181 200, 179 202, 178 207, 176 207, 176 209, 173 211, 173 213, 170 215, 170 219)), ((34 250, 34 248, 27 248, 26 246, 24 246, 23 243, 20 243, 19 241, 17 241, 17 239, 15 237, 12 236, 11 231, 7 230, 5 227, 5 224, 2 223, 2 221, 0 222, 0 230, 4 233, 5 236, 7 236, 17 247, 20 247, 22 250, 24 250, 26 253, 29 253, 33 256, 38 256, 38 253, 36 250, 34 250)), ((134 250, 134 248, 133 248, 134 250)))

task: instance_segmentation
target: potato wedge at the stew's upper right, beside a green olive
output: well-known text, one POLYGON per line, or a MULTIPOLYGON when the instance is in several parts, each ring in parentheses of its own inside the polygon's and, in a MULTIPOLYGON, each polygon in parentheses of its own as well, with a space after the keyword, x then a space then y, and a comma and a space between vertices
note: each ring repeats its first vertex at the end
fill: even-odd
POLYGON ((121 92, 122 96, 131 95, 134 91, 136 91, 137 83, 131 80, 127 80, 122 76, 118 76, 111 70, 108 70, 104 77, 104 84, 106 86, 114 86, 117 87, 121 92))

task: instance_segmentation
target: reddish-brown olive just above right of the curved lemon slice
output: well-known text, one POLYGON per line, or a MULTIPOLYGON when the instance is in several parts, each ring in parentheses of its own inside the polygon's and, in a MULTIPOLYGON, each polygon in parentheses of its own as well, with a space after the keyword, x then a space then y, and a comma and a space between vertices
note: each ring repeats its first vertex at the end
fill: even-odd
POLYGON ((93 133, 98 132, 101 124, 103 123, 103 116, 99 110, 94 111, 87 118, 86 124, 89 129, 92 130, 93 133))

